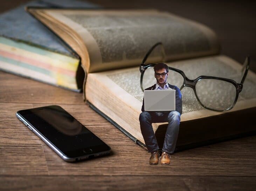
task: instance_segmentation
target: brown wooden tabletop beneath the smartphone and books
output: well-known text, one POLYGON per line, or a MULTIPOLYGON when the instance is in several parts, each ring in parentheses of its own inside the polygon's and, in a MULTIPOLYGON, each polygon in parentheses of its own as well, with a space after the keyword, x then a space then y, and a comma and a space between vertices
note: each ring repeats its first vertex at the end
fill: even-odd
MULTIPOLYGON (((4 6, 0 6, 0 11, 8 10, 22 2, 25 1, 6 1, 4 6)), ((92 0, 92 2, 102 3, 106 7, 143 8, 147 1, 131 1, 133 4, 129 4, 128 1, 123 4, 119 1, 106 3, 106 1, 92 0)), ((250 19, 255 18, 255 14, 250 12, 254 4, 247 5, 245 2, 244 6, 241 6, 242 11, 239 12, 239 3, 232 1, 233 9, 226 10, 227 15, 234 14, 234 11, 242 15, 239 18, 243 19, 243 24, 239 25, 241 21, 238 19, 237 27, 237 30, 243 34, 238 40, 242 47, 242 51, 239 52, 235 49, 237 47, 235 41, 231 42, 231 38, 236 38, 237 32, 230 33, 237 24, 230 22, 226 17, 222 20, 222 24, 218 24, 220 17, 225 15, 223 9, 227 8, 231 1, 224 1, 220 5, 208 1, 196 2, 193 8, 186 7, 186 3, 189 6, 193 4, 188 1, 174 2, 173 6, 161 4, 160 7, 159 3, 155 8, 172 11, 175 7, 180 7, 175 9, 174 13, 178 14, 180 11, 181 16, 191 15, 192 19, 197 21, 201 19, 201 22, 212 28, 220 25, 217 34, 224 41, 224 53, 232 53, 236 56, 227 54, 232 58, 237 60, 242 58, 243 53, 248 49, 255 54, 255 43, 252 43, 253 46, 242 46, 250 44, 248 39, 255 42, 255 32, 252 38, 250 36, 255 28, 249 32, 245 30, 252 27, 247 24, 251 22, 250 19), (212 7, 209 8, 207 3, 212 7), (207 7, 209 15, 207 15, 207 7), (191 9, 195 9, 194 14, 189 13, 191 9), (214 9, 219 11, 219 16, 214 17, 210 14, 214 9), (245 20, 245 18, 250 19, 245 20)), ((146 4, 147 7, 154 5, 153 2, 146 4)), ((255 190, 256 188, 256 136, 178 152, 172 155, 171 165, 150 166, 148 164, 150 154, 85 104, 82 93, 0 71, 0 109, 0 190, 255 190), (18 110, 47 105, 63 107, 107 143, 113 152, 102 158, 76 163, 63 161, 15 116, 18 110)))

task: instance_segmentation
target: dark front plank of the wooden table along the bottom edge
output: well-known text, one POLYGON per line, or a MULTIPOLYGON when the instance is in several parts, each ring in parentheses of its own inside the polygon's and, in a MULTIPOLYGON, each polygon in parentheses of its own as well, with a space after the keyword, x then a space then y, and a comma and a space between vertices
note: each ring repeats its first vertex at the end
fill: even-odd
POLYGON ((241 176, 6 176, 3 190, 255 190, 254 177, 241 176), (213 189, 214 188, 214 189, 213 189))

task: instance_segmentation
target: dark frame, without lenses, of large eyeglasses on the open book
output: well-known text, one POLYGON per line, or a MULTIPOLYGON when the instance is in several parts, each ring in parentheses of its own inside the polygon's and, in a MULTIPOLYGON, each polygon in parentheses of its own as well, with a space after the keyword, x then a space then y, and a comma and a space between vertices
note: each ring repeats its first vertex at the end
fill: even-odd
MULTIPOLYGON (((161 46, 162 46, 162 51, 163 51, 162 53, 163 53, 163 55, 165 56, 163 45, 162 45, 161 42, 159 42, 159 43, 156 43, 154 46, 152 46, 152 47, 148 50, 148 52, 147 52, 147 54, 145 55, 145 57, 144 57, 142 63, 140 64, 140 73, 141 73, 141 74, 140 74, 140 88, 141 88, 141 90, 142 90, 143 92, 144 92, 144 89, 143 89, 143 87, 142 87, 142 81, 143 81, 144 72, 145 72, 145 70, 146 70, 147 68, 154 67, 154 66, 156 65, 155 63, 149 63, 149 64, 144 64, 144 63, 146 62, 147 57, 150 55, 150 53, 153 51, 153 49, 154 49, 156 46, 158 46, 158 45, 161 45, 161 46)), ((159 62, 159 63, 164 63, 164 62, 159 62)), ((193 91, 194 91, 194 94, 195 94, 196 99, 198 100, 198 102, 200 103, 201 106, 203 106, 204 108, 209 109, 209 110, 213 110, 213 111, 217 111, 217 112, 224 112, 224 111, 227 111, 227 110, 232 109, 232 108, 235 106, 235 104, 236 104, 236 102, 237 102, 237 99, 238 99, 238 96, 239 96, 239 93, 240 93, 240 92, 242 91, 242 89, 243 89, 243 83, 244 83, 244 80, 245 80, 245 78, 246 78, 246 76, 247 76, 247 73, 248 73, 248 70, 249 70, 249 65, 250 65, 250 57, 247 56, 247 57, 245 58, 244 66, 243 66, 243 68, 242 68, 242 71, 244 70, 245 67, 246 67, 246 68, 245 68, 245 71, 244 71, 244 74, 243 74, 243 77, 242 77, 242 80, 241 80, 240 83, 236 83, 233 79, 222 78, 222 77, 216 77, 216 76, 199 76, 199 77, 197 77, 197 78, 195 78, 195 79, 189 79, 189 78, 187 78, 187 76, 185 75, 185 73, 184 73, 182 70, 179 70, 179 69, 173 68, 173 67, 169 67, 169 66, 168 66, 168 69, 169 69, 169 70, 173 70, 173 71, 175 71, 175 72, 178 72, 178 73, 183 77, 183 83, 182 83, 182 85, 181 85, 181 87, 180 87, 180 90, 182 90, 183 87, 185 87, 185 86, 186 86, 186 87, 191 87, 191 88, 193 89, 193 91), (196 89, 195 89, 196 83, 198 83, 198 82, 199 82, 200 80, 202 80, 202 79, 217 79, 217 80, 221 80, 221 81, 225 81, 225 82, 229 82, 229 83, 233 84, 233 85, 235 86, 235 88, 236 88, 236 97, 235 97, 235 100, 234 100, 233 104, 232 104, 230 107, 228 107, 227 109, 224 109, 224 110, 212 109, 212 108, 208 108, 208 107, 206 107, 205 105, 203 105, 202 102, 200 101, 200 99, 198 98, 198 95, 197 95, 196 89)))

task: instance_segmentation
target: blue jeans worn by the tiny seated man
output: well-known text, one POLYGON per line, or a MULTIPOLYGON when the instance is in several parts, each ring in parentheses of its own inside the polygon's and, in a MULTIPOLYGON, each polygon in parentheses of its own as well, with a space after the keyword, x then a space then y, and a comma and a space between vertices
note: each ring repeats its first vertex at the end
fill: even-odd
POLYGON ((180 128, 180 113, 171 111, 169 113, 142 112, 139 116, 140 130, 143 135, 148 152, 152 153, 159 150, 157 139, 152 128, 152 123, 168 122, 165 133, 164 146, 162 151, 174 153, 180 128))

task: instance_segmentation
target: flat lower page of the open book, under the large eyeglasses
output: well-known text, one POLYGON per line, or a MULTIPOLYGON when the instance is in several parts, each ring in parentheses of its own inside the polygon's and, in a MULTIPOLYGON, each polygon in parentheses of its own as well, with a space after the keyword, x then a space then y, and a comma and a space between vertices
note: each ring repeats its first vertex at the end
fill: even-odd
MULTIPOLYGON (((242 65, 226 56, 211 56, 200 59, 190 59, 185 61, 170 62, 168 66, 178 68, 185 72, 189 79, 195 79, 201 75, 217 76, 234 79, 237 83, 241 81, 242 65)), ((96 73, 97 79, 104 82, 117 98, 133 107, 138 113, 141 112, 141 106, 144 93, 140 88, 140 71, 139 67, 114 70, 109 72, 96 73)), ((90 75, 90 74, 89 74, 90 75)), ((152 75, 153 81, 154 76, 152 75)), ((168 77, 169 79, 169 77, 168 77)), ((156 81, 154 82, 156 83, 156 81)), ((171 78, 170 84, 177 84, 175 78, 171 78)), ((153 84, 149 85, 152 86, 153 84)), ((218 96, 218 90, 211 87, 205 89, 205 92, 213 91, 218 96)), ((195 97, 190 87, 184 87, 182 93, 182 115, 181 121, 199 119, 212 115, 219 115, 225 112, 215 112, 202 107, 195 97)), ((230 95, 226 95, 230 96, 230 95)), ((221 98, 221 96, 220 96, 221 98)), ((230 99, 232 99, 230 97, 230 99)), ((256 107, 256 75, 249 71, 243 84, 242 92, 239 94, 235 110, 256 107)), ((139 116, 138 116, 139 117, 139 116)))

